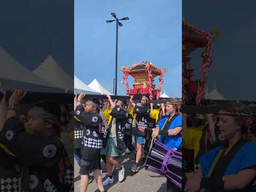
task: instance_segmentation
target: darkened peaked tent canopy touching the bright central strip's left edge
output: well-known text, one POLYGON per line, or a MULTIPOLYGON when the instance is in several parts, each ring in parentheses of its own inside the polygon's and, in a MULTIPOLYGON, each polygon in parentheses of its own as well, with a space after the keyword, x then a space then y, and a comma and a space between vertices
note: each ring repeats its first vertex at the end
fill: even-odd
POLYGON ((66 91, 73 91, 74 80, 63 71, 58 63, 49 55, 41 65, 34 71, 34 74, 46 79, 56 86, 65 89, 66 91))

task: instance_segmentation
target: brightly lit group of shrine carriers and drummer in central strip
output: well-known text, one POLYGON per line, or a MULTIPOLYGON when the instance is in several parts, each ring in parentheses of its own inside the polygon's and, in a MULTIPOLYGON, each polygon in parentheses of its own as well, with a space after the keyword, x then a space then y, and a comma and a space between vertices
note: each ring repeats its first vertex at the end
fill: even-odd
MULTIPOLYGON (((125 170, 138 172, 146 163, 146 153, 152 137, 158 138, 165 146, 180 150, 182 143, 182 118, 179 103, 175 99, 161 105, 153 105, 146 96, 140 103, 123 99, 113 101, 110 95, 101 105, 100 100, 83 99, 79 94, 74 99, 75 118, 75 157, 80 166, 80 191, 85 192, 90 176, 94 175, 99 191, 114 182, 113 169, 118 170, 118 181, 123 182, 125 170), (132 144, 132 137, 135 146, 132 144), (131 167, 120 165, 119 151, 134 154, 131 167), (95 161, 98 159, 98 161, 95 161), (107 167, 107 178, 102 181, 101 159, 107 167)), ((167 181, 167 188, 172 183, 167 181)))

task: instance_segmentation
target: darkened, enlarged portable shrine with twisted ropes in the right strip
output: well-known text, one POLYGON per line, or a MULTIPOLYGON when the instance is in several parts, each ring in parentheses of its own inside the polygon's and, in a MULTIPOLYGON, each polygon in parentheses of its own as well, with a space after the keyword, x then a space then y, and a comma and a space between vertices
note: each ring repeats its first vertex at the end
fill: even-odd
POLYGON ((211 66, 213 57, 211 54, 211 43, 220 37, 220 31, 212 29, 205 32, 197 29, 194 25, 182 20, 182 103, 193 103, 201 105, 201 100, 205 98, 205 83, 207 80, 207 69, 211 66), (212 36, 214 35, 214 36, 212 36), (194 69, 190 66, 191 52, 198 48, 205 47, 201 54, 201 78, 192 80, 194 69))

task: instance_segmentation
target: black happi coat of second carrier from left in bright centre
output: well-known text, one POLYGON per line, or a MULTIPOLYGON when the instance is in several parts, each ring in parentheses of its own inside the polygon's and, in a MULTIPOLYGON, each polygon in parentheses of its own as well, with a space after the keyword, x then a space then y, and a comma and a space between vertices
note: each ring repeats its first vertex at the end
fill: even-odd
POLYGON ((115 106, 111 111, 110 115, 113 117, 109 122, 109 131, 107 134, 107 138, 109 137, 111 129, 116 129, 116 142, 117 142, 117 149, 123 150, 125 149, 124 145, 124 136, 125 136, 125 124, 128 119, 128 113, 124 109, 115 106), (113 119, 116 118, 116 127, 111 127, 113 119))

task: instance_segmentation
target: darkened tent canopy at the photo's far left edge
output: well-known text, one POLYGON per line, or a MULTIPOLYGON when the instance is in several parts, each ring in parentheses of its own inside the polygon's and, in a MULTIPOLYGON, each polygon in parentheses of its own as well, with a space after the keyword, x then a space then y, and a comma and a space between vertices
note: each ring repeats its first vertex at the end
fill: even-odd
POLYGON ((3 90, 27 89, 30 91, 63 92, 53 83, 35 75, 0 47, 0 81, 3 90))

